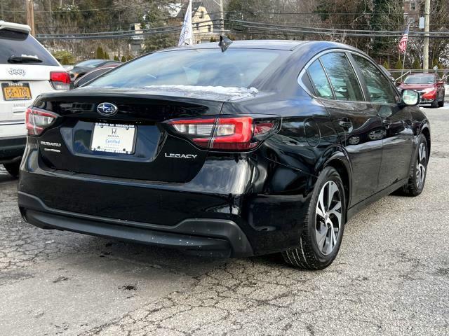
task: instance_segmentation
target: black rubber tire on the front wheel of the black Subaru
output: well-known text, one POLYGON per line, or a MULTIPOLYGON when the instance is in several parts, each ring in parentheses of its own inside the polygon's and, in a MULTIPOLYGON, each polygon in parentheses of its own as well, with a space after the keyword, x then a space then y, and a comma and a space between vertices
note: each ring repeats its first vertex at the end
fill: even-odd
POLYGON ((412 165, 410 167, 410 174, 408 177, 408 181, 405 186, 402 188, 402 194, 407 196, 417 196, 422 193, 422 190, 424 190, 424 185, 426 183, 426 177, 427 177, 427 163, 429 162, 429 147, 427 146, 427 140, 426 137, 424 137, 424 134, 420 134, 417 138, 417 146, 415 153, 413 154, 413 161, 412 165), (421 161, 421 164, 424 165, 424 177, 422 179, 422 182, 420 183, 420 176, 417 174, 417 169, 419 168, 418 165, 418 157, 420 156, 420 148, 421 146, 424 146, 425 149, 425 160, 424 162, 421 161))

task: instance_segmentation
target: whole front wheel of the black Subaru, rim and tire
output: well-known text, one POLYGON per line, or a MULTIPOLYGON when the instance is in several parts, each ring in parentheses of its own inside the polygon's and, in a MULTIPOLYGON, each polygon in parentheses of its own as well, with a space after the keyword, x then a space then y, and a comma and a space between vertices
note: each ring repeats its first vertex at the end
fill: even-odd
POLYGON ((426 182, 427 162, 429 161, 427 140, 424 134, 420 134, 417 140, 417 151, 413 158, 412 167, 410 167, 410 176, 402 190, 404 194, 409 196, 420 195, 426 182))

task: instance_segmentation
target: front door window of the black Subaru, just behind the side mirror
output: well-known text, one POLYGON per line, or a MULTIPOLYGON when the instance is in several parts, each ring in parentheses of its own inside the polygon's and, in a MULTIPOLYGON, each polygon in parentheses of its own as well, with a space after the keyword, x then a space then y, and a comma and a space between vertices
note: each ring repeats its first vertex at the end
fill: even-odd
POLYGON ((354 57, 354 61, 361 70, 363 78, 365 78, 370 101, 396 104, 396 94, 391 88, 390 80, 368 59, 358 55, 352 55, 352 57, 354 57))

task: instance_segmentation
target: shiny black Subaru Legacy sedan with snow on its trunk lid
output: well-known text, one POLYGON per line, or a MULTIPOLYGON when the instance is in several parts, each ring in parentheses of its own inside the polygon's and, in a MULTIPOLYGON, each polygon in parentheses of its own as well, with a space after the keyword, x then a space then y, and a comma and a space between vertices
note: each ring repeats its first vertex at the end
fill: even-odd
POLYGON ((18 204, 43 229, 323 269, 356 211, 422 192, 419 101, 348 45, 153 52, 36 99, 18 204))

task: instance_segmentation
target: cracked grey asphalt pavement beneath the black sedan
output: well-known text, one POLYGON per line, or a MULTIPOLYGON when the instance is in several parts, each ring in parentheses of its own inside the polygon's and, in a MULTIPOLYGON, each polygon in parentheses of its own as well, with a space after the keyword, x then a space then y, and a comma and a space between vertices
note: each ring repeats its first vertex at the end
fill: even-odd
POLYGON ((0 335, 449 335, 449 109, 425 111, 424 192, 351 218, 319 272, 34 228, 0 168, 0 335))

